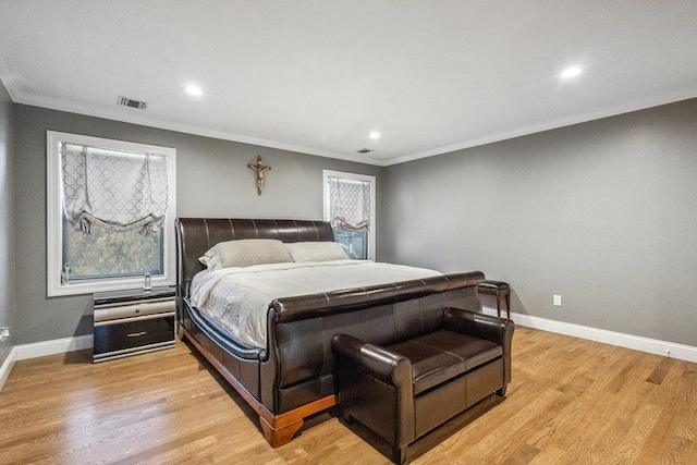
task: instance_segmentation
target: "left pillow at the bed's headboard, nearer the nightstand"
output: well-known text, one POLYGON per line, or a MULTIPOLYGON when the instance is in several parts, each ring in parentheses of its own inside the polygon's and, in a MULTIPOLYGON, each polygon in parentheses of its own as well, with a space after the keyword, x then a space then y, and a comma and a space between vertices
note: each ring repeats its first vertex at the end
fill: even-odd
POLYGON ((210 271, 230 267, 293 261, 283 243, 274 238, 219 242, 198 260, 206 265, 210 271))

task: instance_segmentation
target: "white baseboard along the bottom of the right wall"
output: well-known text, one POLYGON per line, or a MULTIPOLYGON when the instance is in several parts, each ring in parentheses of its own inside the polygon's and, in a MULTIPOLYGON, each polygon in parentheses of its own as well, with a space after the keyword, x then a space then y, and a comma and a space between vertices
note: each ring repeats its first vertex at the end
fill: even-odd
MULTIPOLYGON (((484 307, 484 311, 487 315, 497 314, 496 308, 486 306, 484 307)), ((604 344, 616 345, 640 352, 648 352, 649 354, 670 356, 681 360, 697 363, 697 347, 693 347, 690 345, 659 341, 657 339, 643 338, 640 335, 624 334, 621 332, 550 320, 547 318, 531 317, 523 314, 511 313, 511 319, 516 325, 528 328, 541 329, 543 331, 572 335, 574 338, 587 339, 589 341, 602 342, 604 344)))

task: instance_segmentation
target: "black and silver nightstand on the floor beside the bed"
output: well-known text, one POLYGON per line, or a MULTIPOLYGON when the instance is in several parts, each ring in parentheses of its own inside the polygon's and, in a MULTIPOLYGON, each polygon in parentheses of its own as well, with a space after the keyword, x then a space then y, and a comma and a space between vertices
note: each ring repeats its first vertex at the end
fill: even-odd
POLYGON ((94 298, 95 363, 174 347, 174 287, 99 292, 94 298))

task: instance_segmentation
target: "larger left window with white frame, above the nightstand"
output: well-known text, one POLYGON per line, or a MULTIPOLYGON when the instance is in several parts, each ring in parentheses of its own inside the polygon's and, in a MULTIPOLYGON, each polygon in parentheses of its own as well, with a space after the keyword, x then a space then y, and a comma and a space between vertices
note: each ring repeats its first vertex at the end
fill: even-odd
POLYGON ((173 148, 47 133, 48 295, 174 283, 173 148))

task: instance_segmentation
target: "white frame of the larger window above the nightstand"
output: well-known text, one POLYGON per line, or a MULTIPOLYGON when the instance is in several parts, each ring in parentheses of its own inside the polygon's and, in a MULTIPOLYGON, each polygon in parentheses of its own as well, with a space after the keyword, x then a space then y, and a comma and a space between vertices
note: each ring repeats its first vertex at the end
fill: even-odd
POLYGON ((49 297, 56 297, 62 295, 91 294, 101 291, 139 289, 144 285, 144 277, 98 278, 75 281, 68 284, 61 283, 61 270, 63 267, 63 206, 60 143, 72 143, 115 150, 142 151, 167 157, 168 204, 167 216, 162 225, 164 273, 162 276, 154 276, 151 281, 152 286, 174 285, 176 279, 176 260, 174 257, 174 218, 176 218, 176 149, 80 134, 47 131, 47 295, 49 297))

